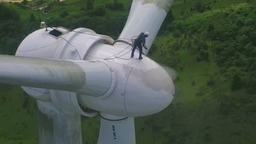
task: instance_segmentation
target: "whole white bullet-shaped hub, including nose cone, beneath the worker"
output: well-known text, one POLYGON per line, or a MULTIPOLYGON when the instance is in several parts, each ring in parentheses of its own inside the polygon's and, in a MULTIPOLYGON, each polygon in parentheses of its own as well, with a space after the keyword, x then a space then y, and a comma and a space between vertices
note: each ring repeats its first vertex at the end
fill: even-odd
POLYGON ((138 60, 138 51, 131 58, 130 50, 131 46, 124 50, 99 44, 90 51, 86 60, 110 57, 106 61, 115 68, 117 80, 115 89, 105 99, 79 94, 83 106, 116 116, 138 117, 158 113, 170 105, 175 93, 171 77, 153 60, 138 60), (114 57, 117 53, 119 58, 114 57))

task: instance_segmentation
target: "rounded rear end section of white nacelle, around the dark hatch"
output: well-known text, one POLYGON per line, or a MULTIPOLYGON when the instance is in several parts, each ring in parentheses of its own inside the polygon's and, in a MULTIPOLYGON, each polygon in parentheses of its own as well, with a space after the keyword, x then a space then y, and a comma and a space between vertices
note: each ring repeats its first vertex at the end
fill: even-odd
MULTIPOLYGON (((49 31, 53 28, 48 28, 49 31)), ((49 58, 52 59, 57 47, 60 45, 63 39, 56 39, 52 36, 47 35, 49 31, 45 29, 36 30, 34 33, 28 35, 18 47, 16 54, 21 57, 39 57, 39 58, 49 58)), ((65 37, 67 34, 62 35, 65 37)), ((49 89, 39 89, 35 87, 25 87, 21 86, 22 89, 28 93, 31 97, 51 102, 51 95, 49 89)))

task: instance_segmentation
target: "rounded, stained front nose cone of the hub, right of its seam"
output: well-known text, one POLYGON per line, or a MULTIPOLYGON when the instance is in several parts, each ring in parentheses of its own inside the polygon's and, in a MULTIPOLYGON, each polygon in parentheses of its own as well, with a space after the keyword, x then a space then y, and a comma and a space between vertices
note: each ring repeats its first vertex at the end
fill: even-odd
POLYGON ((172 78, 156 62, 144 57, 129 75, 125 88, 125 109, 130 117, 147 116, 162 111, 173 100, 172 78))

